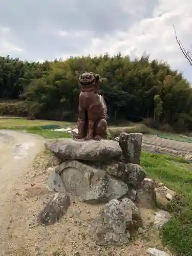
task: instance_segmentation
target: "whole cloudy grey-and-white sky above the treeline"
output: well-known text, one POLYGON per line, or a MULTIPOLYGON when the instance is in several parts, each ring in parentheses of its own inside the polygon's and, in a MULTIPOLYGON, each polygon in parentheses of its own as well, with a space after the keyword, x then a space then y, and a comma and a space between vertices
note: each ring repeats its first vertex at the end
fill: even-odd
POLYGON ((192 81, 173 24, 190 50, 191 0, 1 0, 0 55, 41 61, 146 52, 192 81))

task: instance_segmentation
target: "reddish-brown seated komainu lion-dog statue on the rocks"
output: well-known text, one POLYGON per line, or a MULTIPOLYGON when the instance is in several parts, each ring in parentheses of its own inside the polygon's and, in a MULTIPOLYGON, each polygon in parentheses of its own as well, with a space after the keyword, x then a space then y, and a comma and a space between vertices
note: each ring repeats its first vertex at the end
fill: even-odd
POLYGON ((81 92, 76 139, 100 140, 106 136, 107 108, 100 94, 99 82, 100 76, 92 72, 85 72, 79 76, 81 92))

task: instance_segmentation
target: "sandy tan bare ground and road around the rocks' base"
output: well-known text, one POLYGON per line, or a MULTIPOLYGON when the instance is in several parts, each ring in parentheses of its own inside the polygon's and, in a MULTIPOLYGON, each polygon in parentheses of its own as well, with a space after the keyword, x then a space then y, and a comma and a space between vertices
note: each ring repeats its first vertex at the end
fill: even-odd
MULTIPOLYGON (((1 131, 0 142, 1 255, 146 256, 147 247, 163 248, 155 233, 140 234, 127 246, 96 245, 87 229, 102 205, 88 205, 75 198, 61 221, 38 226, 35 218, 53 196, 46 189, 42 189, 44 195, 31 192, 33 184, 45 182, 52 171, 48 166, 53 159, 44 151, 45 140, 27 133, 1 131)), ((154 218, 154 212, 145 215, 149 223, 154 218)))

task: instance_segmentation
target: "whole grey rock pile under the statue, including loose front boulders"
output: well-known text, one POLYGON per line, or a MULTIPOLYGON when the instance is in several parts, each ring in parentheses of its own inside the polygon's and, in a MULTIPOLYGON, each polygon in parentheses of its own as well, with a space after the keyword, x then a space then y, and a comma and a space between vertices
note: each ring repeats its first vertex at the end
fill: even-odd
POLYGON ((89 204, 105 203, 89 233, 100 245, 127 244, 144 228, 139 208, 156 208, 156 191, 158 199, 165 197, 164 203, 167 194, 173 195, 146 178, 139 165, 141 145, 141 133, 121 133, 118 141, 59 139, 45 143, 60 164, 48 180, 57 196, 39 213, 38 222, 59 220, 62 209, 65 214, 69 207, 70 195, 89 204))

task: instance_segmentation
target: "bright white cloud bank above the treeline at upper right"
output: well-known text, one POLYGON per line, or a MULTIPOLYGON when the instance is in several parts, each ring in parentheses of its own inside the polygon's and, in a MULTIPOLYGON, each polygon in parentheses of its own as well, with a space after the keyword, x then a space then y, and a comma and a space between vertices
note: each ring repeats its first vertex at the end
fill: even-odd
POLYGON ((121 51, 132 58, 140 57, 147 52, 151 58, 167 61, 174 69, 183 71, 192 80, 191 68, 178 47, 173 29, 175 25, 182 44, 190 49, 192 3, 178 0, 170 7, 168 2, 170 1, 159 1, 151 17, 139 20, 126 31, 106 35, 103 40, 93 38, 89 48, 84 49, 84 52, 115 54, 121 51), (165 2, 167 5, 164 4, 165 2))

